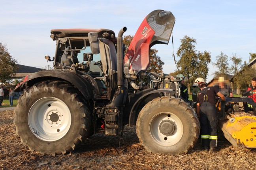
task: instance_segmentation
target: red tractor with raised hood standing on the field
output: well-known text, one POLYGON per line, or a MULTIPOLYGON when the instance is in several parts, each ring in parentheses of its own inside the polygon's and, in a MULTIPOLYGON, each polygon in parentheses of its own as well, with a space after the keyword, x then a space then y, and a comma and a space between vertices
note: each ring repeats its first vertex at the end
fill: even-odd
POLYGON ((14 120, 22 143, 42 154, 65 154, 101 127, 105 135, 122 135, 125 124, 136 124, 149 152, 188 152, 200 125, 180 97, 180 79, 146 72, 150 48, 168 44, 174 23, 170 11, 152 11, 126 54, 126 27, 117 37, 107 29, 51 30, 56 52, 45 58, 54 69, 26 76, 15 89, 23 91, 14 120))

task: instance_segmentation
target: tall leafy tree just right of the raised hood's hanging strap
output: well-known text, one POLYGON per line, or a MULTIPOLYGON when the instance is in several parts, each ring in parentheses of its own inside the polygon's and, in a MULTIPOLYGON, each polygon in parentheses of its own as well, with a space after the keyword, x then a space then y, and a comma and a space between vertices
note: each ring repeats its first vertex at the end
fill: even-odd
POLYGON ((179 74, 183 74, 187 78, 188 91, 190 91, 190 87, 196 78, 207 78, 209 72, 207 65, 211 62, 209 52, 197 53, 195 47, 196 39, 185 35, 183 39, 181 39, 181 45, 177 51, 177 56, 180 57, 177 62, 177 66, 180 68, 179 74))

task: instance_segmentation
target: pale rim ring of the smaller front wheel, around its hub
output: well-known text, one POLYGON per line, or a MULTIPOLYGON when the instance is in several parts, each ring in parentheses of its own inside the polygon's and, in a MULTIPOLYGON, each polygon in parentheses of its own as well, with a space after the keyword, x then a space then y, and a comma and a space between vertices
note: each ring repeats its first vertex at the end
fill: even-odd
POLYGON ((177 144, 183 137, 183 124, 181 120, 174 114, 162 112, 155 115, 149 123, 149 134, 152 139, 162 146, 173 146, 177 144), (160 124, 163 121, 171 122, 175 129, 171 135, 164 135, 160 131, 160 124))

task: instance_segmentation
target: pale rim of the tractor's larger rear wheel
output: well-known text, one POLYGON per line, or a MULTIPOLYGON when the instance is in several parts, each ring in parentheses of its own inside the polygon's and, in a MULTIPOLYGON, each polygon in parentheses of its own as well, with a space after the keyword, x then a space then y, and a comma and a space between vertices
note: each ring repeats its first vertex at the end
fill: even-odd
POLYGON ((28 113, 30 130, 44 141, 55 141, 64 137, 70 129, 71 122, 68 106, 55 97, 39 99, 28 113))

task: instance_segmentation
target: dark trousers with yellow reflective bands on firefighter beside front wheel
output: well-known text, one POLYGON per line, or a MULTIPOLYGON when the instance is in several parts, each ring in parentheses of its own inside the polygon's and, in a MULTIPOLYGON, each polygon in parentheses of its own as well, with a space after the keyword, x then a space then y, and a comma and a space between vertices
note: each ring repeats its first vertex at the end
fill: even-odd
POLYGON ((200 105, 201 141, 203 147, 217 146, 218 117, 215 106, 209 102, 200 105))

